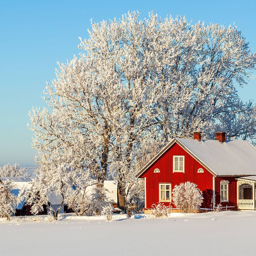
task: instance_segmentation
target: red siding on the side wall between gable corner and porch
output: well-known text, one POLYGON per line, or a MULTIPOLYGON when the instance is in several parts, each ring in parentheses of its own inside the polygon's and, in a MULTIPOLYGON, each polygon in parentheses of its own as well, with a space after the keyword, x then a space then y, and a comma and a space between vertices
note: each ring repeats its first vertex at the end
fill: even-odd
POLYGON ((216 205, 232 207, 231 209, 237 209, 237 181, 235 177, 217 177, 215 181, 215 195, 216 205), (221 180, 228 180, 228 202, 220 202, 220 182, 221 180))

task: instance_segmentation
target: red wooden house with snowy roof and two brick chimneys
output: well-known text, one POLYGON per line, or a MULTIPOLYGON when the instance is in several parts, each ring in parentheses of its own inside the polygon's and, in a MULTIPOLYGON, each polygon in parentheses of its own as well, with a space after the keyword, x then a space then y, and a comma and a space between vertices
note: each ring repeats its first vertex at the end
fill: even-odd
MULTIPOLYGON (((248 141, 175 138, 137 174, 145 180, 145 209, 172 203, 175 185, 190 181, 203 192, 202 207, 218 204, 229 209, 255 209, 256 148, 248 141)), ((175 206, 175 205, 173 205, 175 206)))

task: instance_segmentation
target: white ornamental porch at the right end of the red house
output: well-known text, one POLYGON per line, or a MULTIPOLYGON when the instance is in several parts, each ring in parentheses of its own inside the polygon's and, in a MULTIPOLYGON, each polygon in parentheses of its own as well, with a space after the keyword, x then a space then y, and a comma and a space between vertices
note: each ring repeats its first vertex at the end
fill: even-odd
POLYGON ((256 180, 237 179, 237 209, 255 210, 255 182, 256 180))

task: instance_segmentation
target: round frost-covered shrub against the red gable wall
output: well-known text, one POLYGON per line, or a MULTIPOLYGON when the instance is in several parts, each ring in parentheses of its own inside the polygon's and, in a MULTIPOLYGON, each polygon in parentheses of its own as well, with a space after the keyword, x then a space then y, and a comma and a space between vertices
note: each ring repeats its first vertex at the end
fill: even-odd
POLYGON ((202 192, 193 182, 180 183, 173 188, 173 203, 182 212, 195 212, 200 207, 204 198, 202 192))

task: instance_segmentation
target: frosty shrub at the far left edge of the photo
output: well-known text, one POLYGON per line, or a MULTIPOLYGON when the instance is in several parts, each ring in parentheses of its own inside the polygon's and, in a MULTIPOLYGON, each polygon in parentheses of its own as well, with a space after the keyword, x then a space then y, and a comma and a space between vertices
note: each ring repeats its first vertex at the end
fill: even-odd
POLYGON ((15 214, 15 207, 20 203, 20 197, 13 195, 12 189, 12 182, 0 182, 0 217, 7 220, 15 214))

